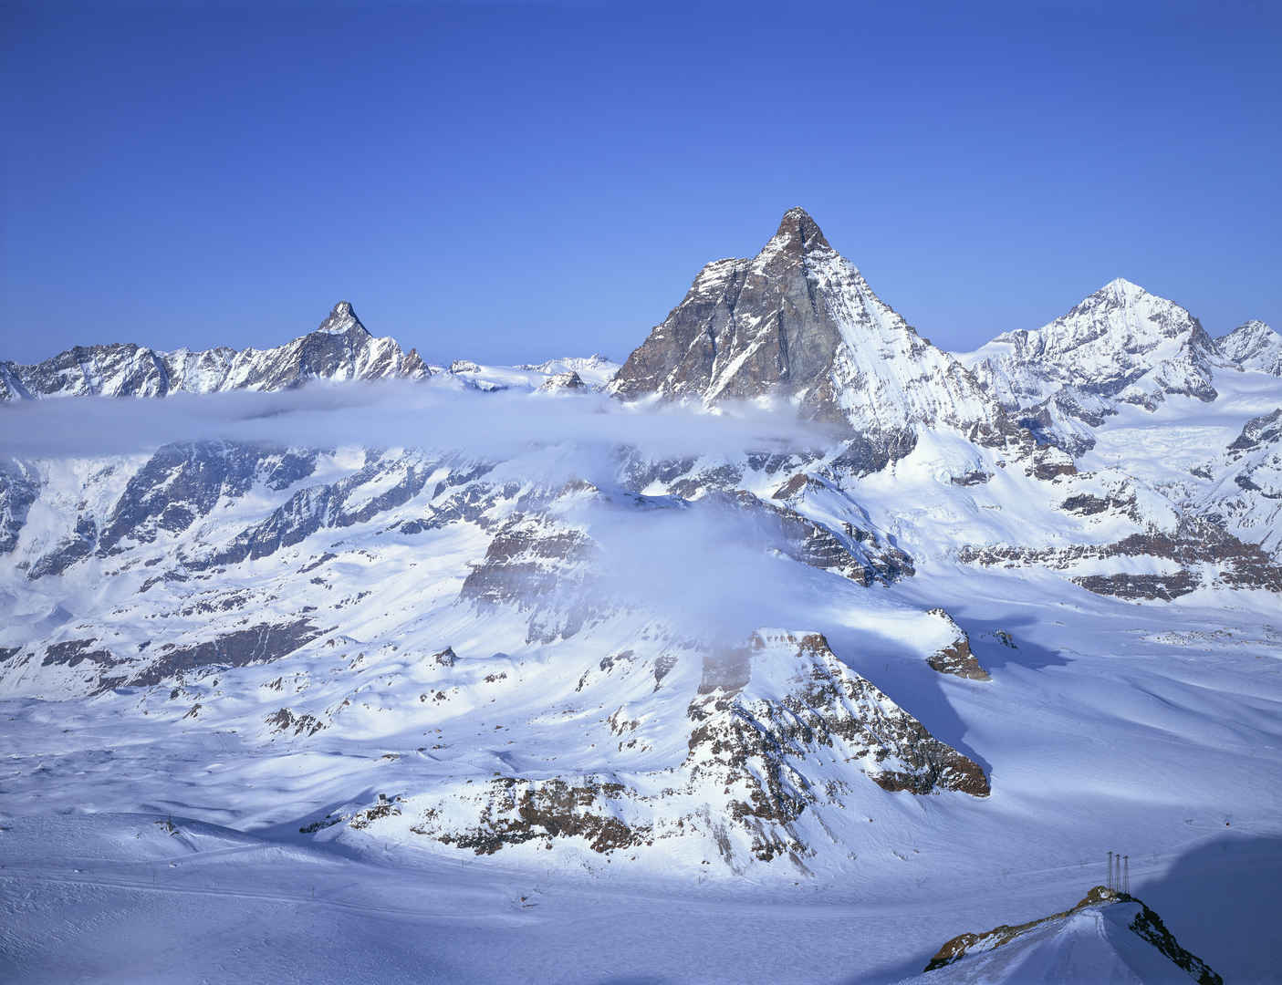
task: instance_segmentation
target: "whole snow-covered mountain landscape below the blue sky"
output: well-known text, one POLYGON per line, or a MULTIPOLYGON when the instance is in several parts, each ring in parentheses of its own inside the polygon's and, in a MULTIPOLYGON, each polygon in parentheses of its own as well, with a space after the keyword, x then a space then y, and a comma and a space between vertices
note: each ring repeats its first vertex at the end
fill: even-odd
POLYGON ((790 213, 618 377, 0 409, 0 977, 897 981, 1115 849, 1267 979, 1278 378, 1111 286, 1074 459, 865 288, 790 213))

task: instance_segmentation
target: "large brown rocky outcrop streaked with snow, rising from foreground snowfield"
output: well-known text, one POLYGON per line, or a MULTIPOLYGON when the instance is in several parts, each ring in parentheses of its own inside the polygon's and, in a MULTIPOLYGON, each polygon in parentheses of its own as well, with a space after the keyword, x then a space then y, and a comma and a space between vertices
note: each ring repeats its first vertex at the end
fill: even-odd
MULTIPOLYGON (((642 676, 649 663, 631 652, 601 661, 603 675, 615 671, 642 676)), ((594 685, 588 675, 585 685, 594 685)), ((479 854, 554 839, 608 853, 701 836, 735 868, 779 857, 804 867, 814 849, 803 818, 840 811, 863 777, 892 793, 988 793, 974 762, 841 663, 817 633, 762 630, 746 647, 704 653, 686 715, 687 752, 677 769, 633 781, 500 776, 428 798, 410 830, 479 854)), ((624 735, 640 722, 620 708, 609 724, 624 735)))

